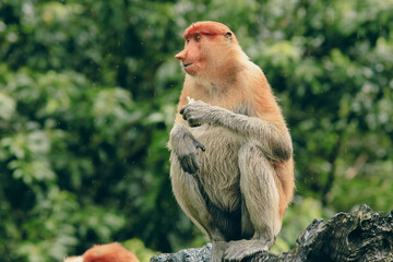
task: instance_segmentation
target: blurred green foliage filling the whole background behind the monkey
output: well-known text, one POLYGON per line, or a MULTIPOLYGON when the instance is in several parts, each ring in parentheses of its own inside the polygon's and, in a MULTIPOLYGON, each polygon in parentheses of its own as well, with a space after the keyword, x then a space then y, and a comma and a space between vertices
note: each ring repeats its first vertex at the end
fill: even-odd
POLYGON ((93 243, 174 251, 205 238, 179 210, 166 148, 182 31, 223 22, 291 130, 297 196, 275 251, 314 217, 393 209, 392 0, 0 2, 0 260, 93 243), (129 246, 128 246, 129 245, 129 246))

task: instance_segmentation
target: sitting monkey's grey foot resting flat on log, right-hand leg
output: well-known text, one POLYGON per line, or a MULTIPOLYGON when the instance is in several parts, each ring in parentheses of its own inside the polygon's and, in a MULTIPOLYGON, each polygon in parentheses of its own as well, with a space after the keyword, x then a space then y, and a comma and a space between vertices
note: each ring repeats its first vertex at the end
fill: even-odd
POLYGON ((224 253, 224 261, 241 261, 247 257, 264 251, 269 251, 269 245, 261 239, 230 241, 224 253))

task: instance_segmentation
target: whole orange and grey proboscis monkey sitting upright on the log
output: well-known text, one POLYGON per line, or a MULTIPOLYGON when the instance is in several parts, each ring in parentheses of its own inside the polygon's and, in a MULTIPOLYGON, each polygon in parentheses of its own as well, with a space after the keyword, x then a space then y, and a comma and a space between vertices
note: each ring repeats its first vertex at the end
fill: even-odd
POLYGON ((295 187, 291 139, 265 75, 227 26, 198 22, 183 37, 168 143, 174 194, 210 237, 212 261, 240 261, 281 230, 295 187))

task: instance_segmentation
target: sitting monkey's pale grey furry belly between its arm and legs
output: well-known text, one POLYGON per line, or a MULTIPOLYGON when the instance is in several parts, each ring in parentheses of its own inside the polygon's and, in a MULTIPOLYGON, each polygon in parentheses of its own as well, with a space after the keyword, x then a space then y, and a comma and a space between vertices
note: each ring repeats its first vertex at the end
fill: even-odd
POLYGON ((200 181, 212 202, 218 207, 235 211, 240 205, 238 152, 241 140, 233 132, 212 126, 191 129, 194 138, 206 148, 199 152, 200 181))

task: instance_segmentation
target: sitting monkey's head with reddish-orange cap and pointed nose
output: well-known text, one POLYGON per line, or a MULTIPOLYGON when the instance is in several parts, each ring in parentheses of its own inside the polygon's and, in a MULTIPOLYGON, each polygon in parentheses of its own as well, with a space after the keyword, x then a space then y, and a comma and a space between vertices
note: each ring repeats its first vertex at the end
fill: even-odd
POLYGON ((190 25, 184 34, 184 49, 177 53, 186 73, 192 76, 207 76, 210 73, 228 67, 229 59, 238 52, 235 34, 224 24, 203 21, 190 25))

